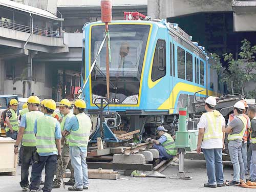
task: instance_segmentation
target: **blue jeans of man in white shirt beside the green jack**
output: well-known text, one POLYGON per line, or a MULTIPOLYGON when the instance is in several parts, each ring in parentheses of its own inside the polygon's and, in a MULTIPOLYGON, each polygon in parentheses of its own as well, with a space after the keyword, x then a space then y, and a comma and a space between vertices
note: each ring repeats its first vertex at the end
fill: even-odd
POLYGON ((209 185, 224 183, 222 148, 203 148, 209 185))

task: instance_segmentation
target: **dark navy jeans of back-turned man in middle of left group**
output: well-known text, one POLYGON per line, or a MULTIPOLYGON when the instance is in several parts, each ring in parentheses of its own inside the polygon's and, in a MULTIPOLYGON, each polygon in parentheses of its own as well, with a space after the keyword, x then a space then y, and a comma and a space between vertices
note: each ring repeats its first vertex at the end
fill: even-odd
POLYGON ((49 192, 52 191, 52 182, 54 177, 54 172, 57 168, 57 155, 50 156, 39 156, 39 162, 33 163, 32 165, 32 181, 29 186, 29 189, 39 189, 40 185, 40 176, 42 169, 45 167, 46 177, 45 177, 45 186, 42 187, 42 191, 49 192))

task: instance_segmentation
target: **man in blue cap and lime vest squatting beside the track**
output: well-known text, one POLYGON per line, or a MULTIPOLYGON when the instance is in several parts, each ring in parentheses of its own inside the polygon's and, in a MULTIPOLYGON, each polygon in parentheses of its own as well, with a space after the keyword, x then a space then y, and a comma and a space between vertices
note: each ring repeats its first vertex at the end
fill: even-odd
POLYGON ((177 155, 174 139, 167 133, 167 130, 163 126, 158 126, 156 132, 160 137, 158 140, 147 138, 146 141, 154 143, 153 147, 158 150, 160 159, 172 159, 177 155))

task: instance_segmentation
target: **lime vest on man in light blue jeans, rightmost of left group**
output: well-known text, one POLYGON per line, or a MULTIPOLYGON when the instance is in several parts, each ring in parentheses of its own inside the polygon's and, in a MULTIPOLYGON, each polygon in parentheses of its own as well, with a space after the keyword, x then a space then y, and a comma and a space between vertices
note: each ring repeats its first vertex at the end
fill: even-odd
POLYGON ((77 114, 76 118, 79 123, 79 128, 77 131, 70 132, 69 145, 87 147, 92 125, 91 119, 84 113, 77 114))

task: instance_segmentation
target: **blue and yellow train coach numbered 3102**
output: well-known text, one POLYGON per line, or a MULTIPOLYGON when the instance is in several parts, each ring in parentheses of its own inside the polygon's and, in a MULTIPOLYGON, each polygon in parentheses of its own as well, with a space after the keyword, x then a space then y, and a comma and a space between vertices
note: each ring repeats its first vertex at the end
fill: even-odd
MULTIPOLYGON (((82 90, 89 114, 98 108, 94 101, 106 97, 106 42, 97 56, 105 35, 101 22, 83 27, 82 90)), ((214 60, 204 47, 191 41, 177 24, 166 20, 116 20, 109 24, 110 104, 124 122, 138 129, 145 123, 169 122, 180 107, 188 107, 197 97, 216 95, 218 76, 214 60)))

